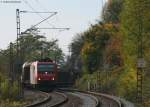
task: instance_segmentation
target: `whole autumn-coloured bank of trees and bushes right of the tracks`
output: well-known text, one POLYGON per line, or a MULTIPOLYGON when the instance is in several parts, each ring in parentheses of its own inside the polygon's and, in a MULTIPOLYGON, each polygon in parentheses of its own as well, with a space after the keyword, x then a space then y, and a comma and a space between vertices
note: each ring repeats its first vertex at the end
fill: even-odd
POLYGON ((150 0, 107 1, 102 19, 77 34, 71 43, 72 56, 68 64, 74 68, 74 72, 79 73, 77 88, 96 88, 136 104, 137 62, 139 50, 142 50, 146 66, 141 74, 143 102, 138 103, 150 107, 149 10, 150 0), (114 70, 109 70, 114 67, 114 70), (120 67, 123 69, 117 70, 120 67), (98 81, 97 72, 100 72, 98 81))

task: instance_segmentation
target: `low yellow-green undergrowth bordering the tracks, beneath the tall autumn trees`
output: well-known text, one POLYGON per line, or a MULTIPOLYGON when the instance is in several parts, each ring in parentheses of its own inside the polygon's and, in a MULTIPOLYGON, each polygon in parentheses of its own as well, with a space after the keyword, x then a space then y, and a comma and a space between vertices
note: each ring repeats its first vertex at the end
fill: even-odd
MULTIPOLYGON (((148 74, 144 77, 143 104, 138 107, 149 107, 150 105, 150 78, 148 74)), ((75 87, 83 91, 92 90, 115 95, 137 104, 136 71, 133 69, 130 72, 125 71, 125 69, 101 71, 100 76, 98 76, 97 72, 93 74, 85 73, 81 78, 76 80, 75 87)))

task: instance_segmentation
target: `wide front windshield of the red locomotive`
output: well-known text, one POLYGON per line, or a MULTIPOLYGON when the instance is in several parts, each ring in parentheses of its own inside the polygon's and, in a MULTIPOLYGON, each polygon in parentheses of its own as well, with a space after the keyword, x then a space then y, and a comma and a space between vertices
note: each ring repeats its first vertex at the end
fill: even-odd
POLYGON ((54 65, 53 64, 38 64, 39 72, 53 72, 54 65))

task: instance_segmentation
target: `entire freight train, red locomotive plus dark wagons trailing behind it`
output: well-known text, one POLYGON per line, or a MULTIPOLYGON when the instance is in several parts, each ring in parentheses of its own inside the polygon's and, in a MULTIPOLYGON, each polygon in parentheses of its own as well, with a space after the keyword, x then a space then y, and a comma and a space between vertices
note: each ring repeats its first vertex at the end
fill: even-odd
POLYGON ((73 85, 73 74, 62 72, 51 59, 25 62, 22 66, 21 81, 25 87, 66 87, 73 85))

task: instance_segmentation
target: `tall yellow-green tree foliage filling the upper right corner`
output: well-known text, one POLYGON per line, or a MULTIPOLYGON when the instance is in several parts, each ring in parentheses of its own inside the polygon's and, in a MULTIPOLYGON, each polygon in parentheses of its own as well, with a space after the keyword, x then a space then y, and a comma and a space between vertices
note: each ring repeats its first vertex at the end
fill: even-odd
POLYGON ((121 14, 121 25, 124 33, 125 50, 131 56, 137 55, 138 39, 143 41, 143 48, 148 49, 149 41, 147 39, 150 36, 148 31, 150 26, 148 21, 150 19, 149 9, 149 0, 125 0, 124 10, 121 14))

